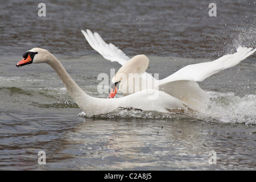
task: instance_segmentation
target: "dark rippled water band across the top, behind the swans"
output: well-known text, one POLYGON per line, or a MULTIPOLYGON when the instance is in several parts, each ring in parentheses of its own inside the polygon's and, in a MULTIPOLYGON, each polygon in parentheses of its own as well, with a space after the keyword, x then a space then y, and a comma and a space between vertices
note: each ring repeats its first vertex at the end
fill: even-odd
POLYGON ((217 57, 255 45, 255 3, 217 1, 7 1, 1 5, 0 48, 12 54, 42 47, 60 55, 96 53, 81 30, 96 31, 127 55, 217 57), (26 13, 24 13, 26 12, 26 13))

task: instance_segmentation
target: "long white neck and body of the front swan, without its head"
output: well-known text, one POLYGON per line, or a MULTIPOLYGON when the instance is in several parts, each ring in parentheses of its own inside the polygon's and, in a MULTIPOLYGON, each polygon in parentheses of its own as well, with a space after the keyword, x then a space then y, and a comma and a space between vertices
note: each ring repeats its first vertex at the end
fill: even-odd
POLYGON ((73 81, 55 56, 48 53, 45 58, 45 61, 41 63, 47 63, 55 70, 73 100, 86 114, 106 114, 119 106, 133 107, 142 110, 156 110, 160 112, 173 112, 179 108, 184 111, 187 110, 180 100, 164 92, 159 92, 158 90, 150 90, 150 92, 154 91, 152 92, 153 95, 155 93, 159 94, 159 99, 154 100, 154 104, 152 104, 152 100, 148 100, 148 96, 152 94, 144 93, 143 91, 115 99, 90 97, 73 81))

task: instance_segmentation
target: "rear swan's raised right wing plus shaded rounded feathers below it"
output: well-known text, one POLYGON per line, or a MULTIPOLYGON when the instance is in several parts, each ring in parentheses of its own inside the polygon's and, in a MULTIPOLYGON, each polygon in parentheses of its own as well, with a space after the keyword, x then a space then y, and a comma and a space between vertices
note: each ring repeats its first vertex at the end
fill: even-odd
POLYGON ((232 55, 222 56, 212 62, 187 65, 163 80, 159 80, 158 89, 179 98, 192 109, 203 110, 207 108, 209 98, 207 92, 202 90, 197 82, 224 69, 234 67, 256 51, 256 49, 251 50, 252 48, 238 47, 237 52, 232 55))

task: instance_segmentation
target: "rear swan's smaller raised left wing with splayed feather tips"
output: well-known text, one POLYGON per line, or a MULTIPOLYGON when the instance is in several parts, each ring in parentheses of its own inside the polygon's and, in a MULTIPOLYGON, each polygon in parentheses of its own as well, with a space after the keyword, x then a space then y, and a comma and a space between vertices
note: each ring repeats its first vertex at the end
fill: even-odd
POLYGON ((101 38, 101 36, 94 32, 94 34, 90 30, 81 30, 82 34, 84 34, 85 39, 88 41, 90 46, 100 53, 106 60, 110 61, 116 61, 119 64, 123 65, 125 64, 130 58, 121 51, 121 49, 118 49, 114 46, 114 44, 110 43, 107 44, 104 42, 104 40, 101 38))

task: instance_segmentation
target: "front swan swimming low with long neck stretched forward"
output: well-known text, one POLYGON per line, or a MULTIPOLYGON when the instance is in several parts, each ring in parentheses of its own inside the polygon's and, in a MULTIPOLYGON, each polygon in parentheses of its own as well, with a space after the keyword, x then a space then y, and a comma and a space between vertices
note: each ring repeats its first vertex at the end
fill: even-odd
POLYGON ((73 100, 75 100, 80 109, 86 114, 106 114, 118 107, 133 107, 135 109, 154 110, 163 113, 180 112, 190 114, 194 111, 193 108, 187 106, 183 101, 154 89, 142 90, 129 94, 129 96, 115 99, 91 97, 82 91, 68 75, 67 71, 65 71, 60 61, 46 49, 32 48, 23 54, 23 58, 23 60, 16 64, 16 67, 22 67, 32 63, 47 63, 50 65, 57 75, 59 75, 61 81, 63 81, 65 88, 67 88, 73 100), (157 99, 148 99, 152 95, 157 95, 157 99))

